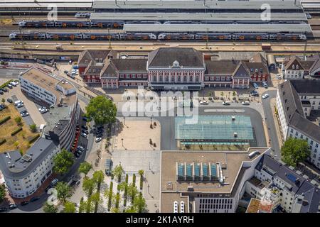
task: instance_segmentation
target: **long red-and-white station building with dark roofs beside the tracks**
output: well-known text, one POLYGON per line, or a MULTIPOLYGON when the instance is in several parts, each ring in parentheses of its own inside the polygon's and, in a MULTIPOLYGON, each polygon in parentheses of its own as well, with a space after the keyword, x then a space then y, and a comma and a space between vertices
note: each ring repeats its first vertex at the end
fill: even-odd
POLYGON ((205 60, 193 48, 159 48, 146 59, 117 59, 110 50, 85 50, 79 56, 84 81, 104 89, 150 87, 154 90, 247 89, 267 81, 267 61, 260 53, 247 60, 205 60), (104 58, 105 57, 105 58, 104 58))

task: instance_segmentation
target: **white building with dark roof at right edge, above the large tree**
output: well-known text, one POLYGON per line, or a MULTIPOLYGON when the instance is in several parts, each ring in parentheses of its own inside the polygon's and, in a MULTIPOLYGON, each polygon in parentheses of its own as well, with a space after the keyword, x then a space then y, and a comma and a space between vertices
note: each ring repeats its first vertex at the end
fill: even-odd
POLYGON ((319 80, 287 80, 278 87, 277 113, 284 140, 301 138, 309 143, 308 160, 320 169, 320 127, 308 118, 320 109, 319 80))

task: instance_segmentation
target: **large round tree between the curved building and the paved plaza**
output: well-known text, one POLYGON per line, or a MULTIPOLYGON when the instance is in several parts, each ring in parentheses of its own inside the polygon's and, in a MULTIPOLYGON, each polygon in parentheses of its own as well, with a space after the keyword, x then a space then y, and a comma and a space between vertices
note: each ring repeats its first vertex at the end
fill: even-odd
POLYGON ((97 96, 91 99, 85 109, 87 110, 87 116, 93 118, 98 125, 114 123, 116 120, 117 107, 105 96, 97 96))

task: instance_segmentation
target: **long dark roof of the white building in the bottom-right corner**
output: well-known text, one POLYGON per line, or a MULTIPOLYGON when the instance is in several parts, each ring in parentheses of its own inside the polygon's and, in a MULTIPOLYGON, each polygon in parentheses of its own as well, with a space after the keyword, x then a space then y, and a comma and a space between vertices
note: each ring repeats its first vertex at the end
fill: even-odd
POLYGON ((294 194, 304 195, 304 203, 302 203, 300 210, 301 213, 316 213, 318 211, 318 206, 320 205, 320 189, 269 155, 263 155, 255 168, 260 171, 264 166, 274 170, 273 177, 279 177, 287 182, 292 187, 291 191, 294 192, 294 194), (292 179, 294 179, 294 182, 292 179))

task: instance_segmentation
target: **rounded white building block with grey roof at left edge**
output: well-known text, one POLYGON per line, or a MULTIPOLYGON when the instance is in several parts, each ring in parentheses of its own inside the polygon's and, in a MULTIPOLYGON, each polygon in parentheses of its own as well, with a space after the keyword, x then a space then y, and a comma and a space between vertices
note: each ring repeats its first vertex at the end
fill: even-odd
POLYGON ((0 155, 0 168, 6 188, 15 198, 24 198, 36 192, 52 174, 53 157, 60 146, 53 140, 40 138, 21 156, 18 150, 0 155))

